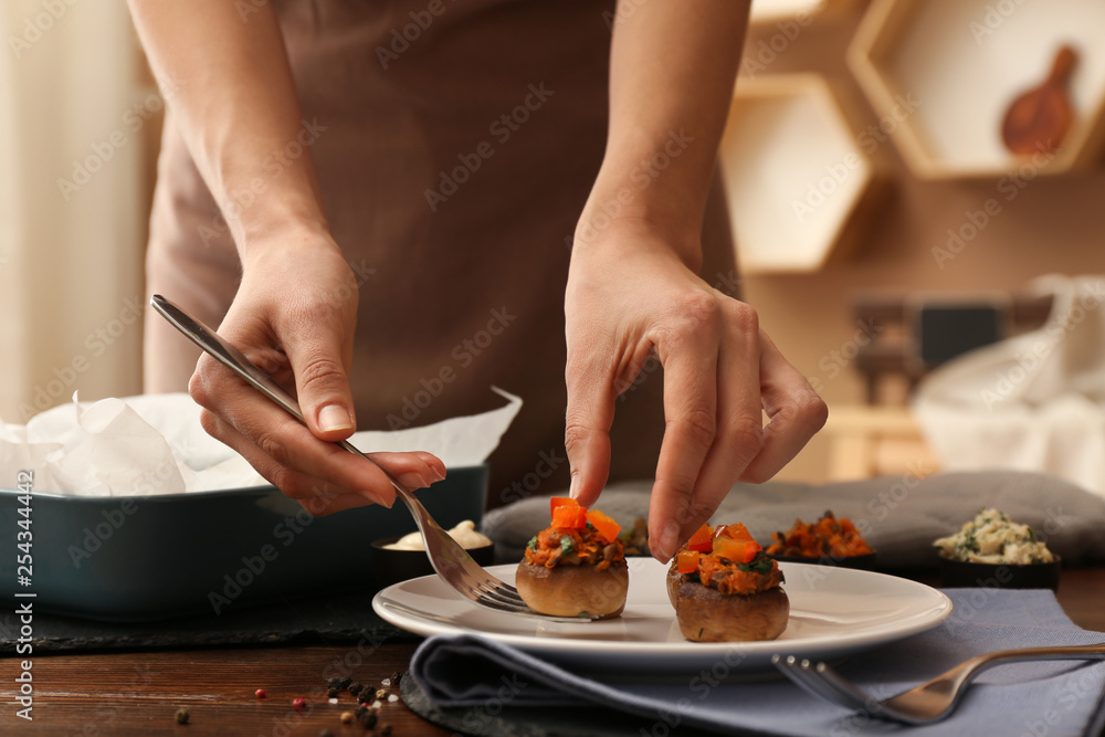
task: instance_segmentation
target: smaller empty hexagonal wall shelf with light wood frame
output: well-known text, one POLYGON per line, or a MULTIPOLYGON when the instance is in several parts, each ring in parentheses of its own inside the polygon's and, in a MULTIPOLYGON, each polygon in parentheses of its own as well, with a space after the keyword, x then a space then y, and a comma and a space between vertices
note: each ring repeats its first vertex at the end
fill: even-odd
POLYGON ((817 74, 741 80, 720 161, 745 272, 814 271, 842 255, 878 189, 817 74))

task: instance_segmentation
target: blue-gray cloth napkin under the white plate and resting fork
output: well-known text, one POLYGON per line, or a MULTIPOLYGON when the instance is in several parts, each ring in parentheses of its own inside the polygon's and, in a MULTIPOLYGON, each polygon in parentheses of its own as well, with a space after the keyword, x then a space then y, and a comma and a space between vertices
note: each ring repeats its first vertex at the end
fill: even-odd
MULTIPOLYGON (((854 655, 841 666, 877 698, 922 683, 994 650, 1105 642, 1075 627, 1050 591, 953 589, 955 612, 939 627, 854 655)), ((659 665, 657 665, 659 667, 659 665)), ((822 702, 789 681, 713 682, 680 677, 599 682, 480 635, 434 635, 411 660, 410 675, 440 707, 600 705, 655 718, 652 734, 676 727, 768 735, 1097 735, 1105 726, 1105 663, 1015 663, 983 673, 946 720, 905 727, 822 702)), ((659 677, 663 673, 657 671, 659 677)))

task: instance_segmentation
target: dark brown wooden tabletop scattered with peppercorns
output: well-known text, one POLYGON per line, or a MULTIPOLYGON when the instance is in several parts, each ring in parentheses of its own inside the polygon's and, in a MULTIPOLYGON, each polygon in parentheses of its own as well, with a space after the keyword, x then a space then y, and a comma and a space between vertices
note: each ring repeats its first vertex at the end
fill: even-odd
MULTIPOLYGON (((1105 567, 1063 571, 1059 600, 1076 624, 1105 632, 1105 567)), ((408 710, 402 701, 381 699, 375 731, 340 723, 340 714, 355 706, 349 694, 343 694, 337 705, 327 703, 327 677, 348 673, 379 687, 396 671, 406 671, 415 646, 404 642, 35 655, 32 722, 15 716, 19 706, 11 685, 19 666, 14 659, 7 659, 0 687, 0 734, 317 737, 329 729, 343 737, 380 734, 383 725, 391 725, 394 737, 451 735, 408 710), (257 688, 264 688, 267 698, 256 698, 257 688), (296 697, 307 698, 311 708, 295 712, 292 699, 296 697), (181 707, 190 714, 187 726, 176 723, 181 707)), ((394 686, 388 692, 398 693, 394 686)))

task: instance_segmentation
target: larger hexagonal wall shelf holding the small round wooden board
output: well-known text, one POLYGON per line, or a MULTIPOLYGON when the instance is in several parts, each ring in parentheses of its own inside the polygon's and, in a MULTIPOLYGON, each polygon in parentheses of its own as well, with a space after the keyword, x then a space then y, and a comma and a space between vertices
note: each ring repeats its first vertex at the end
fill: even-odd
POLYGON ((1101 0, 875 0, 849 65, 916 176, 1034 177, 1096 162, 1105 143, 1103 33, 1101 0), (1055 152, 1017 156, 1001 140, 1006 110, 1043 82, 1063 44, 1078 55, 1066 87, 1073 125, 1055 152))

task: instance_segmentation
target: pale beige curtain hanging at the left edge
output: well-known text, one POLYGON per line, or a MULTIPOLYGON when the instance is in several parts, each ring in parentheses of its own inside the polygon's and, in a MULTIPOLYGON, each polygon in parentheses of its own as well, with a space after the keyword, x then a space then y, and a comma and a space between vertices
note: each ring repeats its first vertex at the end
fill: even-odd
MULTIPOLYGON (((124 2, 0 6, 0 418, 140 391, 145 85, 124 2)), ((0 485, 2 485, 0 480, 0 485)))

